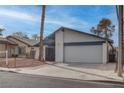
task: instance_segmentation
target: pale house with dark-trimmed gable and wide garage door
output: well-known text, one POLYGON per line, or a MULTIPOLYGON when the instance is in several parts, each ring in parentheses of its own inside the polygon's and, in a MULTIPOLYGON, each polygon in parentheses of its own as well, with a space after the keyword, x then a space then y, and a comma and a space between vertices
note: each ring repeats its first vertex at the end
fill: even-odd
MULTIPOLYGON (((106 63, 105 38, 61 27, 45 38, 45 59, 56 62, 106 63)), ((112 41, 109 41, 109 50, 112 41)))

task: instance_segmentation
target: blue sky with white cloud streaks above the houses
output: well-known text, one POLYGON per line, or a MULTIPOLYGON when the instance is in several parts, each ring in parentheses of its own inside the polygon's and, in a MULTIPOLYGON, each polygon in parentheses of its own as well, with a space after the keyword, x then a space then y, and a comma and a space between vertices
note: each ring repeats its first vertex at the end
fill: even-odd
MULTIPOLYGON (((29 36, 39 33, 41 6, 0 6, 0 27, 6 28, 4 36, 25 32, 29 36)), ((111 19, 116 26, 112 39, 118 44, 115 6, 47 6, 44 36, 61 26, 90 33, 102 18, 111 19)))

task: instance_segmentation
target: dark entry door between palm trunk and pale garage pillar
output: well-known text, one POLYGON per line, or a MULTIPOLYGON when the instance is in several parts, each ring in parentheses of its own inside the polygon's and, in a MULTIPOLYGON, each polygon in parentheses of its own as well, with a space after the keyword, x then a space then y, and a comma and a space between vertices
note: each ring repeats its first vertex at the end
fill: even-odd
POLYGON ((46 59, 46 61, 55 61, 55 48, 46 47, 45 59, 46 59))

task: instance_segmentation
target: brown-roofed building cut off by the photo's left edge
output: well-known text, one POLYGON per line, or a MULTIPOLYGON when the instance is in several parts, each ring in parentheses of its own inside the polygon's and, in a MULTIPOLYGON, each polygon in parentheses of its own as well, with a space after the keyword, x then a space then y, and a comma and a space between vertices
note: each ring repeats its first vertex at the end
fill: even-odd
POLYGON ((11 57, 14 53, 14 49, 17 43, 7 40, 6 38, 0 37, 0 51, 8 51, 8 56, 11 57))

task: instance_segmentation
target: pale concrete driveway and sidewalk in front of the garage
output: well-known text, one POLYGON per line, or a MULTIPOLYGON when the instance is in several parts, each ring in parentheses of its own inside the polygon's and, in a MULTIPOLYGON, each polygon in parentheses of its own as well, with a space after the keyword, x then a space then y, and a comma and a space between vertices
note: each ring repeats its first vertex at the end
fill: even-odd
POLYGON ((114 72, 114 64, 64 64, 49 62, 44 65, 28 68, 1 68, 4 71, 13 71, 17 73, 44 75, 52 77, 63 77, 80 80, 105 80, 124 82, 124 78, 118 77, 114 72))

